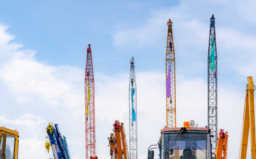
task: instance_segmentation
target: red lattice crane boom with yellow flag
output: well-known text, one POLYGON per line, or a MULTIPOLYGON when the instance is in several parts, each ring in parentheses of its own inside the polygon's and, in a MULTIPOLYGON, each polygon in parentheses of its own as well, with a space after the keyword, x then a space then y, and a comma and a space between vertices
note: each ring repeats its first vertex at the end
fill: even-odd
POLYGON ((85 69, 85 145, 86 145, 86 159, 96 156, 95 145, 95 113, 94 113, 94 74, 93 74, 93 62, 92 62, 92 50, 87 48, 87 59, 85 69), (89 84, 89 90, 88 90, 89 84), (88 102, 88 95, 89 102, 88 102), (87 115, 87 104, 89 115, 87 115))

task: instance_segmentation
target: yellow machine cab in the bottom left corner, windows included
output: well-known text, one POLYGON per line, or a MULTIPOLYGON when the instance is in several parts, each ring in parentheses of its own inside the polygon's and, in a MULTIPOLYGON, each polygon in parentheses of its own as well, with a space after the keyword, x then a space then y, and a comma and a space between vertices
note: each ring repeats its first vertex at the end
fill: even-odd
POLYGON ((17 159, 19 146, 19 132, 0 127, 0 158, 17 159))

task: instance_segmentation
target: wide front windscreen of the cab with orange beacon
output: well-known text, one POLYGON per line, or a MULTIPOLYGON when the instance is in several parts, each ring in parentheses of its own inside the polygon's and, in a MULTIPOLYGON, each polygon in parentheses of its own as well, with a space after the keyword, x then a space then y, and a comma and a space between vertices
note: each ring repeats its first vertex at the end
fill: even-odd
POLYGON ((207 157, 206 133, 183 133, 176 138, 177 140, 176 135, 176 133, 164 134, 163 159, 205 159, 207 157))

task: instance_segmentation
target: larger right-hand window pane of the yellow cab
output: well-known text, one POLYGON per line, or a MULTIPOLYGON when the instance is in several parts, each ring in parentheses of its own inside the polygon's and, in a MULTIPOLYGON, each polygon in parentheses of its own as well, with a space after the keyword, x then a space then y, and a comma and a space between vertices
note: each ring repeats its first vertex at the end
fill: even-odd
POLYGON ((6 135, 5 156, 6 159, 14 159, 15 137, 6 135))

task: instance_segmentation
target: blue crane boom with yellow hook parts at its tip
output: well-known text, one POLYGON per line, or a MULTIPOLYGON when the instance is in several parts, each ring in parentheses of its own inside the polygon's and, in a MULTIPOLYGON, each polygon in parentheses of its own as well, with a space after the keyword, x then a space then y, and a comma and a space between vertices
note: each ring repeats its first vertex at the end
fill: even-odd
POLYGON ((46 132, 49 139, 49 142, 46 142, 46 150, 48 150, 52 146, 53 156, 55 159, 71 159, 68 151, 68 144, 65 136, 61 136, 58 124, 49 123, 46 128, 46 132))

